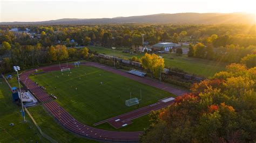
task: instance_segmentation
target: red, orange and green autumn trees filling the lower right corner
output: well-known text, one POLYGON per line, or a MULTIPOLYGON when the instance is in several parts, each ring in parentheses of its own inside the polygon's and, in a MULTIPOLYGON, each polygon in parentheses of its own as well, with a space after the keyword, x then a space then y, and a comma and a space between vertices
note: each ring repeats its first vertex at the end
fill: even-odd
POLYGON ((256 68, 231 64, 150 115, 141 142, 255 142, 256 68))

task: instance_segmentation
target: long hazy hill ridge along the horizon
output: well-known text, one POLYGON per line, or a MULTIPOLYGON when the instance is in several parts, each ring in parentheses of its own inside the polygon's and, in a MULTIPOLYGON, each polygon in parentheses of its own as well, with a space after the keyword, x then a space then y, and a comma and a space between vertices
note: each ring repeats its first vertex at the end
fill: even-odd
POLYGON ((255 24, 255 15, 248 13, 161 13, 157 15, 77 19, 64 18, 44 22, 2 22, 0 25, 83 25, 83 24, 255 24))

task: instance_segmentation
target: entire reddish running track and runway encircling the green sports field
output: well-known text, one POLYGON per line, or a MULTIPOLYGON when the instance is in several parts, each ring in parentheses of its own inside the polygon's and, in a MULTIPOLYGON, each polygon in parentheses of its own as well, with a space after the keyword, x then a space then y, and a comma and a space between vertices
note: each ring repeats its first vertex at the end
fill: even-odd
MULTIPOLYGON (((106 67, 103 65, 99 65, 98 63, 94 62, 88 62, 86 63, 87 66, 94 66, 98 68, 102 68, 107 71, 111 71, 112 73, 116 73, 119 75, 123 75, 125 77, 131 78, 133 80, 148 84, 148 85, 153 85, 153 87, 157 87, 160 89, 163 89, 166 87, 166 85, 158 85, 159 83, 153 82, 150 80, 142 80, 140 77, 136 76, 129 76, 127 73, 124 73, 122 71, 112 69, 110 67, 106 67), (147 83, 149 82, 149 83, 147 83)), ((69 65, 69 68, 72 68, 72 65, 69 65)), ((55 66, 48 66, 48 67, 42 67, 39 69, 43 69, 45 72, 47 71, 53 71, 53 70, 60 70, 59 65, 55 66)), ((52 101, 52 98, 46 94, 46 92, 39 88, 38 85, 30 80, 29 75, 33 73, 34 70, 29 70, 26 71, 25 73, 21 74, 21 82, 25 85, 25 87, 31 91, 31 93, 38 99, 39 102, 43 103, 43 106, 46 110, 48 110, 53 117, 55 117, 60 124, 62 124, 65 128, 68 128, 70 131, 75 132, 79 135, 83 135, 84 137, 87 138, 92 138, 96 140, 103 140, 103 141, 131 141, 131 142, 137 142, 139 141, 139 135, 142 134, 143 132, 115 132, 115 131, 106 131, 106 130, 100 130, 98 128, 94 128, 91 126, 84 125, 82 123, 79 123, 75 118, 73 118, 67 111, 65 111, 57 102, 52 101)), ((173 93, 175 92, 176 95, 181 95, 182 93, 185 93, 185 91, 180 91, 178 89, 174 89, 172 87, 170 88, 165 88, 164 90, 170 90, 173 93), (171 90, 173 89, 173 90, 171 90)), ((106 121, 115 121, 120 125, 129 124, 131 119, 138 118, 140 116, 146 115, 149 113, 151 110, 158 110, 160 108, 163 108, 167 105, 170 105, 173 101, 167 101, 163 102, 160 101, 155 104, 151 104, 149 106, 145 106, 144 108, 140 108, 138 110, 134 110, 129 113, 125 113, 123 115, 117 116, 116 117, 105 120, 106 121), (117 121, 116 121, 117 120, 117 121), (119 121, 119 122, 118 122, 119 121)), ((102 121, 103 122, 103 121, 102 121)), ((99 123, 100 124, 100 123, 99 123)), ((118 125, 117 125, 118 126, 118 125)))

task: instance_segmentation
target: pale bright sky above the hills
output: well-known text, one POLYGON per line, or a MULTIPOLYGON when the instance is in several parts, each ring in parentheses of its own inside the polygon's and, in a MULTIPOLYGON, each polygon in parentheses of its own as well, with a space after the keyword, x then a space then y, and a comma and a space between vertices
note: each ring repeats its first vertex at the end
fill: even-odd
POLYGON ((0 22, 38 22, 61 18, 113 18, 158 13, 256 13, 255 0, 0 0, 0 22))

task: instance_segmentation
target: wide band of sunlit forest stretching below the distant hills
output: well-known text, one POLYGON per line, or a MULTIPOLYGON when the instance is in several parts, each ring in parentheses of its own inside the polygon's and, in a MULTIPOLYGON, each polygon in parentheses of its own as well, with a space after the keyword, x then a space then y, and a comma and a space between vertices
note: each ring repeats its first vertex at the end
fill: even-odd
MULTIPOLYGON (((15 26, 12 26, 15 27, 15 26)), ((43 46, 66 45, 76 46, 70 40, 75 40, 78 46, 96 44, 105 47, 140 46, 142 34, 144 41, 149 45, 159 41, 201 41, 205 44, 212 34, 218 35, 213 46, 226 46, 230 44, 247 47, 255 45, 255 29, 251 25, 97 25, 97 26, 16 26, 24 30, 39 34, 41 38, 31 38, 26 33, 10 32, 11 26, 0 27, 0 43, 3 41, 20 45, 36 45, 40 42, 43 46), (187 36, 187 37, 186 37, 187 36)))

